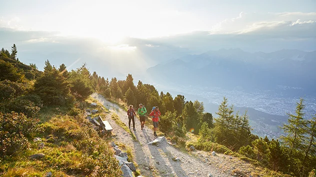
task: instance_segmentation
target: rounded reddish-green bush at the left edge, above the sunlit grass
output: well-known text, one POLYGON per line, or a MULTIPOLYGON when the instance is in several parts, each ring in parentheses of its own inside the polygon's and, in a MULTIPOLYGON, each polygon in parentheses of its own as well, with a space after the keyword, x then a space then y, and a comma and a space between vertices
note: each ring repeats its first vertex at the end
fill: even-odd
POLYGON ((37 132, 38 119, 15 112, 0 112, 0 156, 15 155, 29 147, 28 140, 37 132))

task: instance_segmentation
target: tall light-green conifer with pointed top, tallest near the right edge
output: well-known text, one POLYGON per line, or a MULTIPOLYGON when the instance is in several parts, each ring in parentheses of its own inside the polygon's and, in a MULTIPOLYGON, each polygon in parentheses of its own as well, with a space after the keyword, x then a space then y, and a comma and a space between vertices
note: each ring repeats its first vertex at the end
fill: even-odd
POLYGON ((284 130, 285 136, 281 136, 281 140, 292 150, 301 150, 304 134, 306 133, 306 121, 304 120, 304 100, 300 98, 299 103, 296 103, 296 115, 287 113, 289 119, 288 124, 283 124, 281 129, 284 130))

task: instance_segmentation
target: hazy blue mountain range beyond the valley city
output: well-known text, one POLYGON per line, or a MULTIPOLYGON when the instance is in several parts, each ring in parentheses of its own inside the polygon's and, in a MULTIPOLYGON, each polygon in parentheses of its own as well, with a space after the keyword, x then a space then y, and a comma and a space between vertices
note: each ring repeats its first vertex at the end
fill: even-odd
POLYGON ((280 89, 316 93, 316 51, 279 50, 249 53, 220 49, 160 63, 147 73, 157 82, 226 89, 280 89))

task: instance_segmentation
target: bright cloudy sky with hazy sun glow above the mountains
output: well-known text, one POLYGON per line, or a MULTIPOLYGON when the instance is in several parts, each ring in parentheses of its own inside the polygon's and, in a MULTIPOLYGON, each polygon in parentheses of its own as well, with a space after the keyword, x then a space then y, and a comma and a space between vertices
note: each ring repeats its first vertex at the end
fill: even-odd
POLYGON ((58 65, 160 61, 220 48, 316 50, 315 0, 0 0, 0 46, 58 65), (63 58, 63 59, 58 59, 63 58), (68 59, 67 59, 68 58, 68 59), (70 59, 71 58, 71 59, 70 59), (52 63, 54 63, 54 61, 52 63))

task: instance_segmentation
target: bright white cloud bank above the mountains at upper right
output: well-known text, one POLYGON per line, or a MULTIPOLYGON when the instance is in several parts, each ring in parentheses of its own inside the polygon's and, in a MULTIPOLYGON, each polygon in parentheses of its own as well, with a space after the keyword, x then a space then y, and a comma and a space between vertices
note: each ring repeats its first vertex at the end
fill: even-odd
POLYGON ((316 37, 316 12, 245 13, 225 19, 210 30, 210 34, 266 35, 278 38, 316 37))

